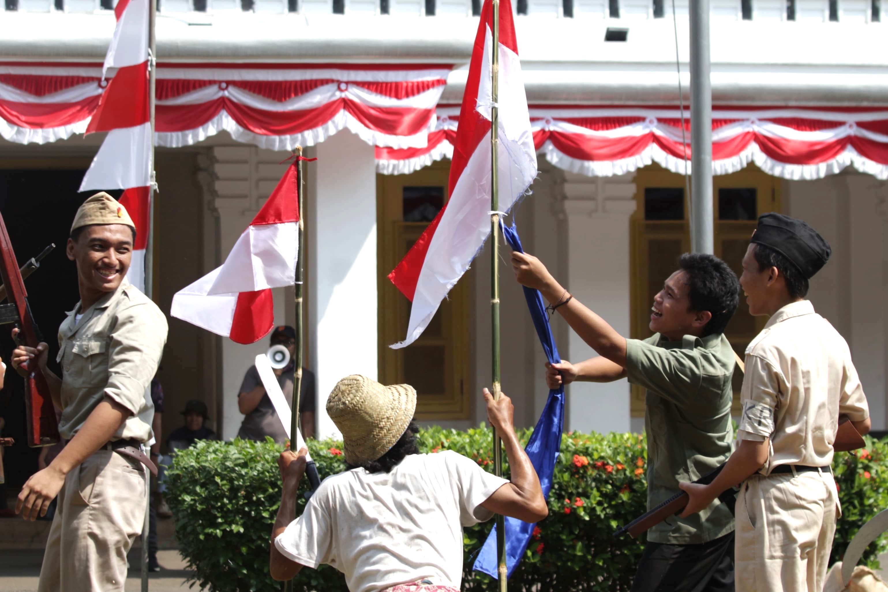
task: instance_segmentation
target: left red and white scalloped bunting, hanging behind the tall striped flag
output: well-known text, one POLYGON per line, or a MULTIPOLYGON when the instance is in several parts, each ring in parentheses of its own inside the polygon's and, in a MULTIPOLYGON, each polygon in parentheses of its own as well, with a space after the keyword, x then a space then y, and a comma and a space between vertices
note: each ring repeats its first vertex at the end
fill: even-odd
MULTIPOLYGON (((145 0, 131 0, 136 2, 145 0)), ((226 130, 242 142, 291 150, 351 130, 373 146, 421 148, 435 127, 450 69, 161 63, 156 142, 189 146, 226 130)), ((113 83, 119 73, 112 67, 108 75, 113 83)), ((44 144, 81 133, 107 92, 102 85, 99 64, 0 62, 0 136, 44 144)))

